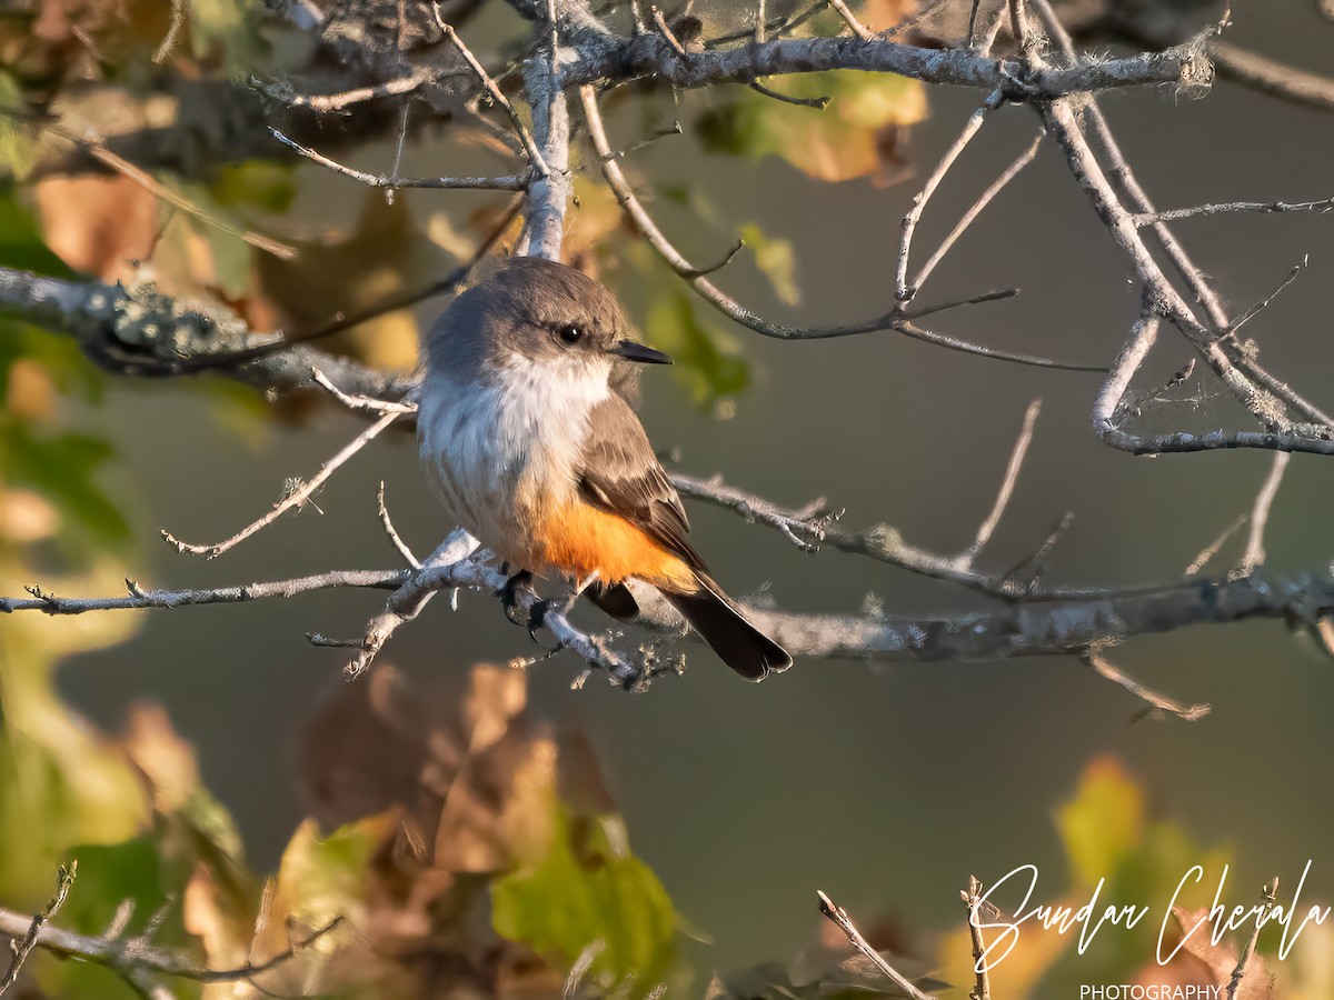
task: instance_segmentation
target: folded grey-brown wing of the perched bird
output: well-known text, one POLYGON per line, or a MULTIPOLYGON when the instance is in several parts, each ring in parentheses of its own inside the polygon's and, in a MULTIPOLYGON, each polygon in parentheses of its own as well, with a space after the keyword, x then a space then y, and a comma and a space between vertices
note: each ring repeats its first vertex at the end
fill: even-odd
POLYGON ((704 569, 686 539, 690 533, 686 508, 654 455, 639 417, 619 395, 603 400, 590 413, 579 492, 594 507, 643 528, 692 568, 704 569))

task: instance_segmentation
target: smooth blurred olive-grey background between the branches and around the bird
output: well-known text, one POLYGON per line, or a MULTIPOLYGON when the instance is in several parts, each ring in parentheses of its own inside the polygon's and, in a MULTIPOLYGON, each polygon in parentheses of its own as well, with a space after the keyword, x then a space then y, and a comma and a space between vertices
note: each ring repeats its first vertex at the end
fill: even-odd
MULTIPOLYGON (((1235 44, 1334 72, 1334 25, 1314 4, 1242 5, 1233 16, 1235 44)), ((510 25, 504 12, 486 13, 476 33, 486 39, 510 25)), ((610 124, 614 143, 632 145, 646 120, 679 117, 684 136, 627 157, 636 187, 656 192, 651 207, 664 228, 700 260, 719 256, 747 224, 787 240, 798 301, 780 300, 750 252, 719 283, 766 316, 830 324, 876 315, 891 301, 899 220, 980 96, 931 88, 926 117, 900 136, 892 183, 820 183, 778 156, 711 151, 694 123, 718 109, 722 93, 683 93, 679 107, 656 93, 646 97, 651 112, 623 111, 610 124)), ((1103 107, 1162 208, 1330 193, 1329 112, 1227 81, 1202 99, 1138 89, 1107 95, 1103 107)), ((991 117, 931 201, 916 236, 919 260, 1035 128, 1026 108, 991 117)), ((423 136, 408 145, 403 172, 471 169, 467 159, 446 161, 459 156, 450 151, 448 136, 423 136)), ((468 155, 494 169, 494 159, 468 155)), ((379 141, 350 161, 380 171, 392 156, 394 144, 379 141)), ((372 200, 383 201, 315 164, 295 168, 293 187, 295 203, 272 231, 347 233, 372 200)), ((470 232, 470 213, 498 200, 398 197, 408 221, 436 236, 470 232)), ((600 225, 599 203, 586 201, 572 209, 575 232, 600 225)), ((1317 404, 1334 405, 1331 217, 1222 216, 1187 220, 1177 232, 1234 312, 1267 296, 1309 255, 1310 268, 1247 333, 1271 371, 1317 404)), ((406 239, 388 225, 382 245, 368 240, 356 253, 374 268, 382 249, 394 260, 406 239)), ((598 267, 650 341, 666 345, 660 336, 671 309, 662 301, 670 279, 642 252, 602 257, 598 267)), ((1061 156, 1043 145, 950 253, 923 301, 1019 285, 1018 299, 946 312, 931 324, 988 345, 1106 363, 1135 316, 1129 279, 1061 156)), ((313 288, 293 297, 319 316, 320 295, 313 288)), ((1269 469, 1265 453, 1137 459, 1109 449, 1089 421, 1097 375, 999 364, 894 333, 780 343, 683 301, 743 376, 736 387, 719 388, 707 379, 702 387, 690 369, 648 372, 643 419, 659 447, 676 449, 678 468, 722 472, 791 505, 824 496, 846 509, 848 527, 887 523, 939 552, 971 541, 1023 412, 1041 397, 1014 501, 980 560, 990 568, 1022 560, 1073 511, 1075 521, 1051 557, 1053 583, 1179 577, 1249 509, 1269 469)), ((440 308, 423 303, 418 321, 430 323, 440 308)), ((1189 357, 1178 339, 1161 339, 1153 377, 1135 387, 1162 397, 1146 405, 1143 425, 1207 431, 1235 421, 1206 375, 1155 392, 1189 357)), ((411 435, 391 431, 319 493, 320 512, 284 516, 215 561, 177 555, 157 540, 160 529, 191 541, 232 533, 276 499, 284 479, 312 473, 363 425, 332 405, 275 419, 244 392, 219 384, 107 379, 96 403, 61 403, 61 427, 93 431, 115 449, 99 481, 132 528, 133 541, 119 557, 124 575, 144 585, 200 587, 392 565, 395 553, 375 517, 382 480, 395 523, 418 552, 452 527, 418 472, 411 435)), ((1334 464, 1295 456, 1269 524, 1269 572, 1329 568, 1331 496, 1334 464)), ((694 504, 690 515, 700 551, 738 595, 767 588, 782 608, 814 612, 855 612, 868 597, 894 615, 986 605, 975 593, 874 561, 804 555, 731 513, 694 504)), ((1239 556, 1243 536, 1223 549, 1219 572, 1239 556)), ((4 591, 28 581, 8 580, 4 591)), ((105 731, 121 727, 129 705, 160 703, 195 747, 204 784, 235 817, 249 861, 264 871, 307 815, 297 767, 304 721, 346 683, 338 652, 311 648, 304 633, 355 635, 382 600, 376 592, 329 592, 136 615, 124 641, 61 661, 59 693, 105 731)), ((85 627, 79 619, 59 624, 85 627)), ((447 705, 472 664, 532 652, 492 597, 463 593, 456 613, 436 601, 382 659, 408 675, 424 700, 447 705)), ((1135 637, 1114 660, 1159 691, 1210 703, 1211 715, 1193 724, 1133 723, 1138 703, 1066 657, 799 661, 751 687, 699 648, 688 651, 683 677, 643 696, 596 677, 571 691, 579 664, 558 656, 531 668, 530 697, 539 715, 576 728, 599 751, 635 852, 656 871, 678 912, 711 937, 692 952, 702 968, 796 953, 818 929, 816 888, 867 919, 894 915, 915 941, 958 929, 958 889, 970 873, 990 881, 1034 863, 1043 872, 1043 899, 1066 892, 1070 863, 1058 813, 1090 764, 1110 767, 1109 757, 1139 787, 1149 815, 1202 851, 1227 853, 1237 901, 1249 904, 1274 875, 1291 884, 1307 859, 1314 868, 1306 895, 1334 899, 1327 659, 1282 624, 1265 623, 1135 637)))

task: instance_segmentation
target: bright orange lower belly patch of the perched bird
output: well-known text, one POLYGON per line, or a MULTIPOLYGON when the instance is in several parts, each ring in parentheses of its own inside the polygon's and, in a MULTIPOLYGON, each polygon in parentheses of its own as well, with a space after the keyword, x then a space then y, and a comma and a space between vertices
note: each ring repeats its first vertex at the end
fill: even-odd
POLYGON ((596 573, 598 580, 608 584, 634 577, 675 592, 699 589, 695 571, 680 556, 624 517, 583 501, 546 513, 535 528, 532 540, 539 561, 578 580, 596 573))

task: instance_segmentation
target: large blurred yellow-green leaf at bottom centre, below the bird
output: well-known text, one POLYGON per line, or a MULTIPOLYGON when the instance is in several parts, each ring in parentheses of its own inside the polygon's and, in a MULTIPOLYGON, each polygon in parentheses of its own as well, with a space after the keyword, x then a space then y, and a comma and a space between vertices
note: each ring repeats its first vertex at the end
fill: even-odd
POLYGON ((591 975, 604 985, 634 977, 647 993, 671 964, 676 915, 667 891, 638 857, 618 851, 615 817, 571 820, 552 799, 555 835, 536 867, 492 883, 496 933, 572 964, 596 941, 591 975))

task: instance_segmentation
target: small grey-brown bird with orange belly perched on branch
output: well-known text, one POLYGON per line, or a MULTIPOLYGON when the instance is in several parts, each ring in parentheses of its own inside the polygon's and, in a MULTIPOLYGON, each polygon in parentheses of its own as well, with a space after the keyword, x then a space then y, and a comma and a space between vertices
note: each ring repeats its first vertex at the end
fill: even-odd
POLYGON ((747 680, 792 659, 714 581, 680 497, 627 403, 638 364, 611 292, 512 257, 458 296, 426 339, 422 464, 458 523, 510 565, 571 579, 620 620, 627 580, 655 587, 747 680))

